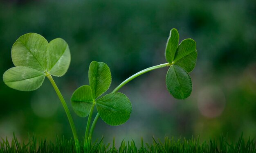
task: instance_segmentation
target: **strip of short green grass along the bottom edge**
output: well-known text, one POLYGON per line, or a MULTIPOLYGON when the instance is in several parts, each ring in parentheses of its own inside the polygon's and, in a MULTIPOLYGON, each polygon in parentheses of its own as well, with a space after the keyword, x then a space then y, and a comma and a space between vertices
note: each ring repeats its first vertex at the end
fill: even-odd
MULTIPOLYGON (((200 141, 197 138, 178 139, 165 137, 164 142, 153 138, 153 143, 144 143, 141 139, 140 146, 135 142, 122 141, 119 148, 115 146, 115 139, 112 145, 105 144, 103 138, 84 148, 83 143, 80 146, 81 153, 256 153, 255 140, 245 141, 243 135, 237 142, 229 142, 228 137, 221 136, 218 139, 209 139, 200 141)), ((56 137, 56 142, 47 139, 37 139, 35 136, 29 138, 29 142, 20 143, 15 135, 11 142, 7 138, 0 142, 0 153, 75 153, 76 147, 72 139, 67 140, 64 137, 56 137)))

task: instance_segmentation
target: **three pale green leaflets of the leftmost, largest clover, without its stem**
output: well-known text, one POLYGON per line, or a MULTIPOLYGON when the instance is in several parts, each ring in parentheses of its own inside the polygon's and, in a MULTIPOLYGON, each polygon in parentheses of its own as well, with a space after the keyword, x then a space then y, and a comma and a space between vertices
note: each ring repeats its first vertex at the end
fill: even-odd
POLYGON ((15 67, 4 72, 4 83, 16 90, 33 91, 47 74, 61 77, 67 72, 70 49, 61 38, 48 43, 39 34, 27 33, 13 44, 11 58, 15 67))

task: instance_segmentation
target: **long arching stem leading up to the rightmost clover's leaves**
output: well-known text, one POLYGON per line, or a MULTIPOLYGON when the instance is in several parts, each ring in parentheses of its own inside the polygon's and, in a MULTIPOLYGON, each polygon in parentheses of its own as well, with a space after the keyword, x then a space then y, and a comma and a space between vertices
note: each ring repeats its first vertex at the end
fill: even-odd
MULTIPOLYGON (((124 85, 126 85, 126 83, 132 81, 133 79, 139 77, 141 74, 144 74, 146 72, 149 72, 149 71, 152 71, 152 70, 155 70, 155 69, 158 69, 158 68, 164 68, 164 67, 167 67, 167 66, 171 66, 172 63, 164 63, 164 64, 159 64, 157 66, 152 66, 150 68, 146 68, 144 70, 141 70, 135 74, 133 74, 132 76, 130 76, 128 79, 126 79, 124 82, 122 82, 120 85, 118 85, 115 90, 112 91, 112 93, 116 93, 119 89, 121 89, 121 87, 123 87, 124 85)), ((99 119, 99 113, 97 113, 97 115, 95 116, 94 118, 94 121, 92 123, 92 127, 91 127, 91 130, 90 130, 90 137, 92 136, 92 133, 93 133, 93 130, 94 130, 94 127, 96 125, 96 122, 97 120, 99 119)))

